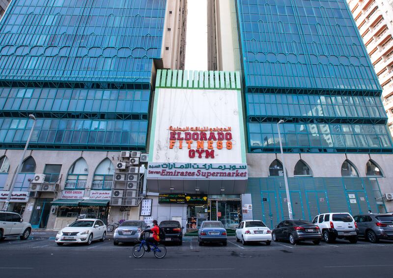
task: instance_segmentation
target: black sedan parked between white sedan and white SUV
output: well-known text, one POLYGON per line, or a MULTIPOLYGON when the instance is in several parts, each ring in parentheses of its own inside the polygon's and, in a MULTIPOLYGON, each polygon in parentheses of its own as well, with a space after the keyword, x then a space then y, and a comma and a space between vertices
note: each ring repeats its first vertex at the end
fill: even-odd
POLYGON ((312 241, 317 245, 322 239, 322 234, 317 225, 307 220, 285 220, 273 230, 272 239, 289 240, 293 245, 299 241, 312 241))

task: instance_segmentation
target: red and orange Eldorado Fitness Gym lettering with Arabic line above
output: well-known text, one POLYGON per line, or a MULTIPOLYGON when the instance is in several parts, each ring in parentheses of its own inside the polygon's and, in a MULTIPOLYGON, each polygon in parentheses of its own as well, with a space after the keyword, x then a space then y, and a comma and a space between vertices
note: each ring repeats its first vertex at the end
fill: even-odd
POLYGON ((232 149, 231 127, 172 127, 169 126, 169 149, 188 149, 189 158, 218 156, 215 150, 232 149))

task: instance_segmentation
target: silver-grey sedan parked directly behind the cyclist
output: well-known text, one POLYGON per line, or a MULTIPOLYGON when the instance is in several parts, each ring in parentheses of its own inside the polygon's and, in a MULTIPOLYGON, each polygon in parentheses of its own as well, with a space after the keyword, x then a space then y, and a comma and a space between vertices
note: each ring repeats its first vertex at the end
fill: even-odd
POLYGON ((118 226, 113 233, 113 244, 118 245, 121 242, 138 242, 140 233, 147 229, 144 221, 127 220, 118 226))

